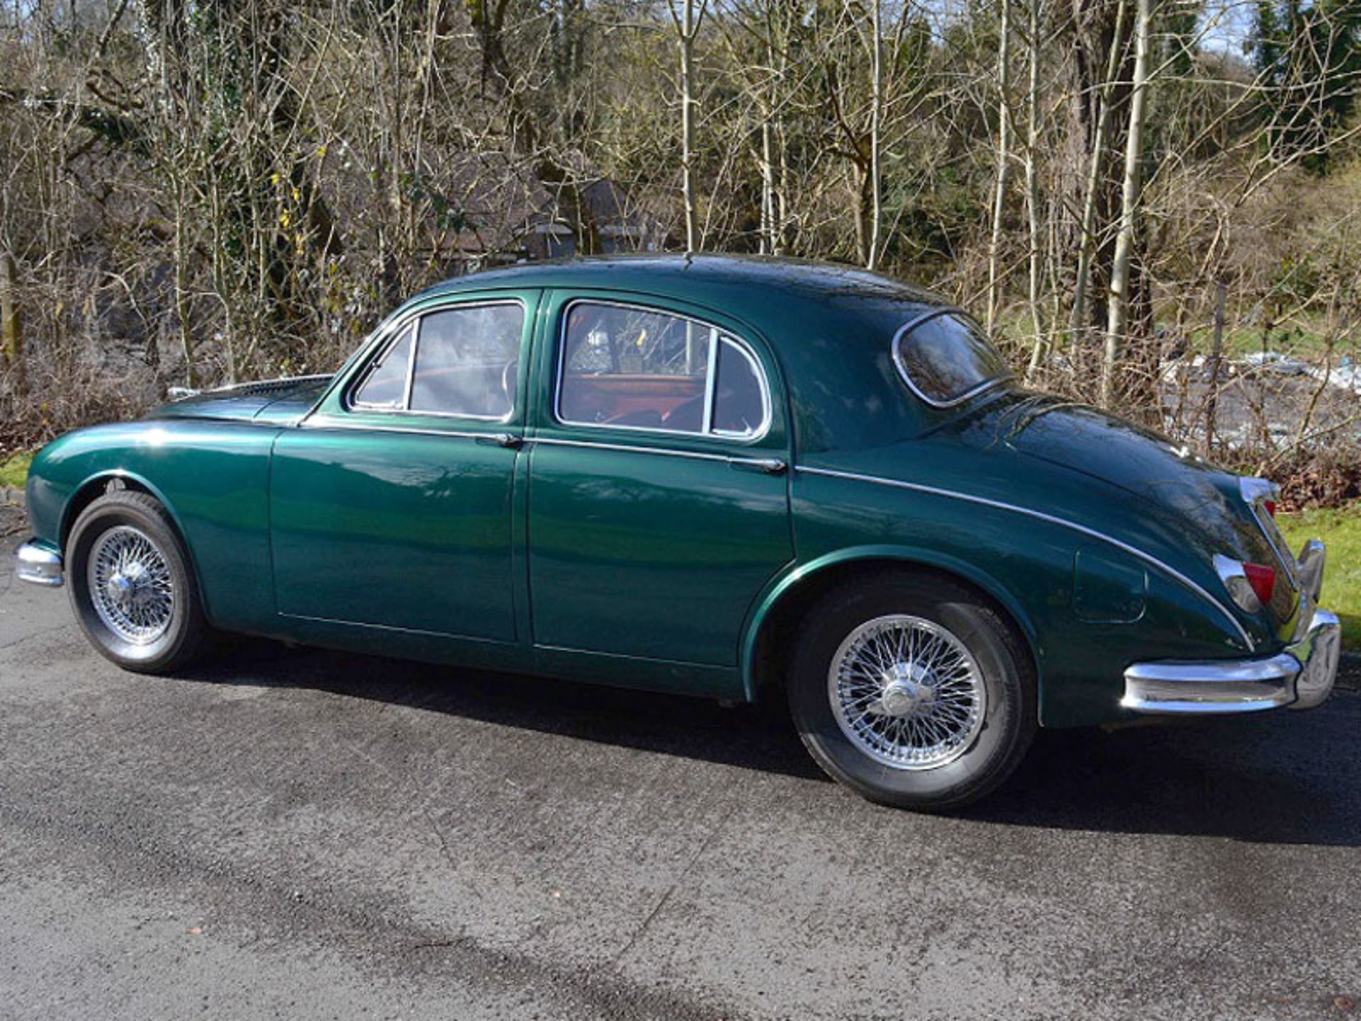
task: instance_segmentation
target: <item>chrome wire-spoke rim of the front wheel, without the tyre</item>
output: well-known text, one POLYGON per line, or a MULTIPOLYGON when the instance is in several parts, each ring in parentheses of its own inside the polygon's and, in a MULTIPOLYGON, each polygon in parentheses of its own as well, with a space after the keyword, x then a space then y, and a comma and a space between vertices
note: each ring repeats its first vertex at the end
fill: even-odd
POLYGON ((140 528, 121 524, 101 534, 90 549, 87 581, 99 621, 121 641, 150 645, 174 621, 174 574, 140 528))

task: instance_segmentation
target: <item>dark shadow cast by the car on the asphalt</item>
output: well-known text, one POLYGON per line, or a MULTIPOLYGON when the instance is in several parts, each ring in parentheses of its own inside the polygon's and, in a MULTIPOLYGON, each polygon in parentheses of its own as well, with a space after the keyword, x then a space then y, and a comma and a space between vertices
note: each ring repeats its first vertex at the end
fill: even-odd
MULTIPOLYGON (((186 674, 220 685, 306 687, 576 741, 826 781, 781 705, 716 702, 517 674, 233 640, 186 674)), ((1025 762, 961 818, 1115 833, 1361 847, 1361 697, 1323 709, 1040 731, 1025 762)), ((847 795, 852 796, 852 795, 847 795)))

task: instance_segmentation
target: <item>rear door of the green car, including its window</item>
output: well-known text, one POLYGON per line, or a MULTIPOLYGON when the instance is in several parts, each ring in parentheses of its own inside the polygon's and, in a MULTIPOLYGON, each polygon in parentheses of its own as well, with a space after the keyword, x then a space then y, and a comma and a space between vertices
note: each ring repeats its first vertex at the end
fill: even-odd
POLYGON ((776 366, 736 323, 553 293, 529 460, 539 648, 735 667, 792 554, 776 366))

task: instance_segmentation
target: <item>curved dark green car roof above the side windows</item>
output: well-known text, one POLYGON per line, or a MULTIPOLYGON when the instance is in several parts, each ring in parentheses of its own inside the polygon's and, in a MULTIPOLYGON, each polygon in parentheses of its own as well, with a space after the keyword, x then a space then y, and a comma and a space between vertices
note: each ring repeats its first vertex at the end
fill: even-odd
POLYGON ((804 298, 826 306, 878 298, 921 306, 947 305, 931 291, 840 263, 732 255, 611 255, 558 259, 456 276, 415 299, 499 287, 581 287, 637 291, 700 304, 742 297, 804 298))

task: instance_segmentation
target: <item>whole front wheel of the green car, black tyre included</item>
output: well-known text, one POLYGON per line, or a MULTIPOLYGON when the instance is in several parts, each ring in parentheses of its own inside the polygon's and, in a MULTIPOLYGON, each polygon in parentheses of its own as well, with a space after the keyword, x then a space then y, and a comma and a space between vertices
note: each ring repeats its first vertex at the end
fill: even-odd
POLYGON ((113 490, 80 512, 67 581, 80 629, 122 668, 169 674, 203 649, 207 622, 189 555, 146 493, 113 490))

